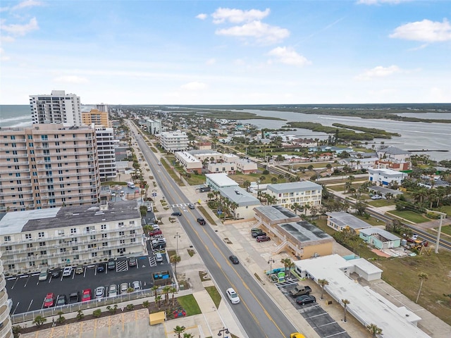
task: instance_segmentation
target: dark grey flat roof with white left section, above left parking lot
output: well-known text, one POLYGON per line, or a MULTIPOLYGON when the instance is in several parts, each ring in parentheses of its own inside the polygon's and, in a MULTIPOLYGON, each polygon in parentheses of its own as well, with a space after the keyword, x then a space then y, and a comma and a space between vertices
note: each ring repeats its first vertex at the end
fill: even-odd
POLYGON ((109 202, 106 210, 100 210, 99 204, 92 204, 13 211, 6 213, 1 218, 0 235, 114 222, 133 218, 141 218, 140 209, 136 201, 109 202))

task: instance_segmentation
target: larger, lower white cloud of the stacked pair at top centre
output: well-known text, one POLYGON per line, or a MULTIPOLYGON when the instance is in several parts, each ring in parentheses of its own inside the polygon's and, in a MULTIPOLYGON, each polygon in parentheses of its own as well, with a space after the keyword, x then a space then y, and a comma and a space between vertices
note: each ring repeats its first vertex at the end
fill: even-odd
POLYGON ((252 37, 261 44, 274 44, 288 37, 290 31, 285 28, 261 23, 260 21, 252 21, 252 23, 246 23, 242 26, 216 30, 216 34, 232 37, 252 37))

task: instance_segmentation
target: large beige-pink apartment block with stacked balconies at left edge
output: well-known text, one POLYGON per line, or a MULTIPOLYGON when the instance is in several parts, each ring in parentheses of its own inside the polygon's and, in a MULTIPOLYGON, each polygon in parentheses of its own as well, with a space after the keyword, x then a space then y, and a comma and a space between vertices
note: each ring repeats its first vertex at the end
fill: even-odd
POLYGON ((0 212, 94 204, 99 182, 93 128, 1 128, 0 212))

